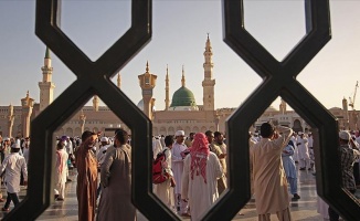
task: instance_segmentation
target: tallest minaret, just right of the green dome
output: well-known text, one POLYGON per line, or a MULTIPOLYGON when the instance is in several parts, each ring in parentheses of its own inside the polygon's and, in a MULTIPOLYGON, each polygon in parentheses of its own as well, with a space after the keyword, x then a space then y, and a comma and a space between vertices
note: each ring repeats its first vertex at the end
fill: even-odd
POLYGON ((214 64, 212 63, 212 48, 208 34, 208 40, 205 44, 205 52, 204 52, 205 62, 203 64, 204 67, 204 80, 202 81, 203 87, 203 108, 204 110, 214 110, 214 86, 215 80, 213 78, 212 69, 214 64))

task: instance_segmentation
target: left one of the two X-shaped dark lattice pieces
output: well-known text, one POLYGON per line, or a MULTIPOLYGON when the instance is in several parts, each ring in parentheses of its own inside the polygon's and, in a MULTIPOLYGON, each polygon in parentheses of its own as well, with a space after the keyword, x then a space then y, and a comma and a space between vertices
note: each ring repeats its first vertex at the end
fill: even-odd
POLYGON ((36 1, 35 33, 77 80, 32 122, 34 151, 30 152, 29 191, 4 220, 34 220, 49 207, 53 198, 55 162, 53 133, 95 94, 131 128, 135 206, 149 218, 177 218, 169 209, 163 210, 163 204, 153 202, 159 200, 151 191, 151 122, 110 81, 150 40, 152 1, 133 0, 131 28, 96 62, 92 62, 59 28, 60 4, 60 0, 36 1))

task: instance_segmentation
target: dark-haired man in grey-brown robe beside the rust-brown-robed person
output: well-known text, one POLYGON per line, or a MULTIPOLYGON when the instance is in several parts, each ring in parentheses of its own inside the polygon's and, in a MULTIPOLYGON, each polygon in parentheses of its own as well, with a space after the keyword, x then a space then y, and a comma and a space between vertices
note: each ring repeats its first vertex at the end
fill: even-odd
POLYGON ((98 204, 98 221, 134 221, 136 209, 131 202, 131 146, 128 134, 118 129, 116 147, 106 152, 102 165, 103 193, 98 204))

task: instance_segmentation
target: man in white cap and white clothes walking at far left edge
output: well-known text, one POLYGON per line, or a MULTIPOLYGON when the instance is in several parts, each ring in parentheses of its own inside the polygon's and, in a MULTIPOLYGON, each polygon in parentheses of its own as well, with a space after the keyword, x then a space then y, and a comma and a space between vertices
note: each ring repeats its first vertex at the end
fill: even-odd
POLYGON ((9 211, 10 202, 14 206, 19 203, 18 192, 20 192, 20 173, 22 170, 24 177, 24 185, 28 185, 28 169, 25 158, 19 155, 20 144, 15 143, 11 146, 11 154, 6 157, 0 166, 0 173, 6 170, 6 182, 8 198, 7 202, 1 209, 2 211, 9 211))

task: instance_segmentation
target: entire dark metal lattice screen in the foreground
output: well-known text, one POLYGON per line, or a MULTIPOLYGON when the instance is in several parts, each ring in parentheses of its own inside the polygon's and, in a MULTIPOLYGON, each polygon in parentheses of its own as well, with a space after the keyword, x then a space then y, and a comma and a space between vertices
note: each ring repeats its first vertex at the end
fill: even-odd
MULTIPOLYGON (((131 129, 135 206, 150 220, 179 220, 151 192, 151 122, 109 80, 150 40, 151 0, 133 0, 131 28, 96 62, 92 62, 59 28, 59 4, 60 0, 36 1, 35 33, 77 80, 32 122, 32 145, 38 151, 30 152, 28 196, 4 220, 34 220, 50 206, 53 133, 95 94, 131 129)), ((264 81, 227 120, 230 187, 203 220, 231 220, 248 201, 247 130, 277 96, 318 129, 320 148, 315 149, 318 194, 345 219, 360 217, 359 202, 340 187, 337 120, 295 78, 330 40, 329 1, 305 0, 305 8, 307 34, 278 62, 246 32, 243 1, 223 1, 224 41, 264 81), (241 176, 235 173, 239 169, 241 176)))

